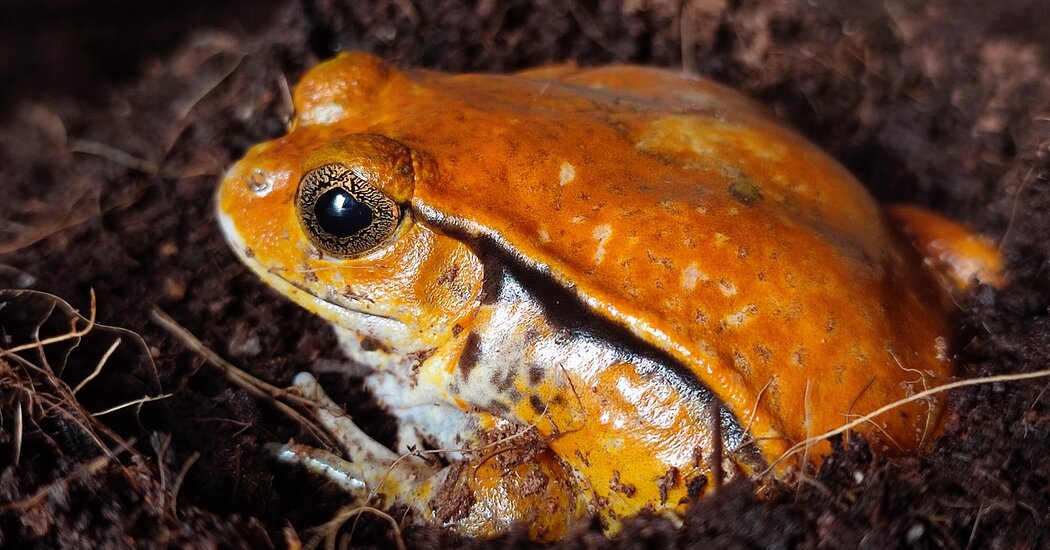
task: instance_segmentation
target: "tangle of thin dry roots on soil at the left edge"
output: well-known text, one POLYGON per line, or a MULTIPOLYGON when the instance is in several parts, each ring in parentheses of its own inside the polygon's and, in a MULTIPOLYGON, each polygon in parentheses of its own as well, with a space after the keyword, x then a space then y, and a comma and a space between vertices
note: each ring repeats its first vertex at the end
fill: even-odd
POLYGON ((2 489, 7 502, 0 504, 0 515, 13 514, 26 541, 38 543, 49 541, 57 529, 68 529, 60 525, 69 521, 65 514, 114 511, 128 522, 149 523, 156 528, 152 534, 161 540, 174 536, 171 533, 180 529, 177 487, 192 461, 172 477, 167 469, 171 454, 161 440, 152 442, 159 457, 149 458, 135 448, 134 441, 125 440, 100 420, 102 415, 168 397, 161 392, 142 338, 98 323, 93 294, 85 316, 57 296, 8 290, 0 290, 0 334, 4 337, 0 340, 0 422, 13 441, 0 448, 9 459, 0 460, 9 464, 8 483, 2 489), (113 397, 121 390, 112 386, 110 375, 142 372, 151 395, 128 401, 113 397), (26 451, 33 453, 32 463, 23 460, 26 451), (138 495, 126 501, 136 503, 138 508, 125 510, 122 507, 131 505, 118 502, 84 502, 92 499, 89 494, 96 488, 113 486, 138 495), (101 510, 109 506, 113 509, 101 510))

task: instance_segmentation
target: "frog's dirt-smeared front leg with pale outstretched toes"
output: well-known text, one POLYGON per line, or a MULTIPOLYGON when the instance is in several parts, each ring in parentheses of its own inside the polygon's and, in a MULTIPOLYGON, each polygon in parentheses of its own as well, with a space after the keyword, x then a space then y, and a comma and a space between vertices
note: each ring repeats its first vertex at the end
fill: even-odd
MULTIPOLYGON (((362 504, 405 506, 420 520, 478 536, 496 536, 521 523, 533 540, 542 541, 561 537, 586 513, 575 477, 534 430, 516 433, 518 427, 504 422, 472 438, 475 450, 445 454, 450 465, 440 468, 419 454, 397 454, 373 440, 313 376, 300 373, 294 386, 317 402, 318 419, 350 459, 294 443, 277 447, 277 458, 323 475, 362 504)), ((400 444, 411 438, 405 436, 400 444)))

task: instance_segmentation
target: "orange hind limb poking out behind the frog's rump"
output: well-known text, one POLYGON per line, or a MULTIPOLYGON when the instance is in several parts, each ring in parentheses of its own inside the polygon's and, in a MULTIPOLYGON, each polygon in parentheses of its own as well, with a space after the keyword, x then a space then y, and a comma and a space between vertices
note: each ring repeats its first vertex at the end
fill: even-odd
POLYGON ((965 292, 974 280, 996 289, 1005 283, 1003 258, 987 237, 923 208, 894 205, 888 211, 949 290, 965 292))

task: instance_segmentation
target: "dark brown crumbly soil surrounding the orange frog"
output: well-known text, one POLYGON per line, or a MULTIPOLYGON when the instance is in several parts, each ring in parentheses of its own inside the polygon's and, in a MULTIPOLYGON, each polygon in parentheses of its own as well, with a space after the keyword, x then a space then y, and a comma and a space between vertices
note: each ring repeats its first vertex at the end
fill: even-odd
MULTIPOLYGON (((56 401, 46 369, 0 358, 0 546, 280 547, 348 502, 267 457, 266 442, 306 438, 295 424, 149 321, 160 306, 276 384, 342 361, 321 321, 236 262, 211 204, 225 167, 282 131, 285 84, 336 49, 449 70, 569 59, 695 67, 771 104, 881 199, 932 208, 1001 242, 1012 282, 961 303, 960 376, 1050 365, 1042 0, 211 4, 0 8, 0 288, 45 291, 82 312, 93 289, 98 319, 144 342, 97 330, 79 346, 21 355, 46 358, 76 386, 120 337, 77 394, 83 409, 56 401), (86 414, 162 393, 172 395, 86 414), (97 460, 121 441, 131 448, 97 460)), ((46 313, 40 296, 0 295, 0 346, 27 341, 46 313)), ((40 333, 68 326, 57 311, 40 333)), ((391 437, 359 379, 323 381, 391 437)), ((639 517, 620 541, 591 526, 562 546, 1050 547, 1046 383, 953 392, 929 454, 873 458, 855 439, 797 490, 759 502, 739 483, 702 500, 680 530, 639 517)), ((424 547, 528 545, 521 532, 495 543, 435 528, 404 536, 424 547)), ((354 543, 388 547, 388 530, 362 517, 354 543)))

